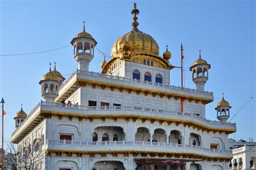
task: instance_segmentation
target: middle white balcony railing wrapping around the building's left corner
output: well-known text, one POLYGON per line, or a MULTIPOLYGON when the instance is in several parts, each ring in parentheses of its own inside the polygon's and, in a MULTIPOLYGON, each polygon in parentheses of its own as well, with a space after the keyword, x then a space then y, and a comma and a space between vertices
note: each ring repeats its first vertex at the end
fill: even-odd
POLYGON ((142 107, 128 107, 128 106, 111 106, 111 107, 87 107, 84 105, 73 105, 73 104, 63 104, 63 103, 51 103, 51 102, 45 102, 45 101, 41 101, 39 102, 36 107, 30 112, 30 114, 28 115, 28 117, 26 117, 24 119, 24 121, 18 126, 18 128, 15 129, 15 131, 12 133, 11 136, 13 136, 18 130, 19 128, 21 128, 21 126, 31 117, 31 115, 33 115, 33 113, 36 111, 37 108, 39 108, 39 106, 49 106, 49 107, 58 107, 58 108, 67 108, 67 109, 78 109, 78 110, 124 110, 124 111, 145 111, 145 112, 153 112, 156 114, 160 115, 174 115, 174 116, 185 116, 185 117, 193 117, 196 118, 200 121, 209 123, 209 124, 214 124, 214 125, 226 125, 226 126, 232 126, 235 128, 236 124, 235 123, 228 123, 228 122, 218 122, 218 121, 210 121, 206 118, 197 116, 195 114, 190 114, 190 113, 185 113, 185 112, 175 112, 175 111, 170 111, 170 110, 158 110, 158 109, 151 109, 151 108, 142 108, 142 107))

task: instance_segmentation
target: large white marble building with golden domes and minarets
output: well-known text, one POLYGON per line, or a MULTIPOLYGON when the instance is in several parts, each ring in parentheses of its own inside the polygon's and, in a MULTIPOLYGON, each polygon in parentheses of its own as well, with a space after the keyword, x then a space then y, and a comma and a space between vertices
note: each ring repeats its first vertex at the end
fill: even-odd
POLYGON ((45 101, 15 117, 19 169, 30 153, 39 155, 32 162, 39 169, 229 168, 231 107, 223 98, 215 108, 220 122, 205 117, 211 65, 200 56, 190 67, 197 89, 170 86, 171 53, 160 56, 153 37, 138 30, 138 13, 135 4, 133 29, 114 42, 101 73, 89 71, 97 41, 84 27, 71 41, 76 72, 65 81, 56 68, 43 76, 45 101))

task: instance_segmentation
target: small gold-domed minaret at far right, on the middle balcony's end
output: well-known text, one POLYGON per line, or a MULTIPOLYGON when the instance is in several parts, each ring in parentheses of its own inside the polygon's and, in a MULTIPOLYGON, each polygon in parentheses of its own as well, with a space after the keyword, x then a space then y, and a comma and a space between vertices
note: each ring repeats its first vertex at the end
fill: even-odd
POLYGON ((220 122, 227 122, 227 119, 230 118, 230 103, 225 101, 224 99, 224 93, 222 100, 217 104, 217 107, 215 110, 217 110, 217 118, 220 122))

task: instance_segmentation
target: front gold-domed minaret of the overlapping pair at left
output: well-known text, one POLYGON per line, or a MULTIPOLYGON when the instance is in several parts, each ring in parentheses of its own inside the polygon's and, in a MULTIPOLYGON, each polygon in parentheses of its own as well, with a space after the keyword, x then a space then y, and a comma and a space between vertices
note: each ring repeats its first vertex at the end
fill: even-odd
POLYGON ((42 86, 42 97, 46 102, 53 103, 55 98, 58 96, 60 82, 58 76, 51 70, 51 63, 49 72, 42 77, 39 84, 42 86))

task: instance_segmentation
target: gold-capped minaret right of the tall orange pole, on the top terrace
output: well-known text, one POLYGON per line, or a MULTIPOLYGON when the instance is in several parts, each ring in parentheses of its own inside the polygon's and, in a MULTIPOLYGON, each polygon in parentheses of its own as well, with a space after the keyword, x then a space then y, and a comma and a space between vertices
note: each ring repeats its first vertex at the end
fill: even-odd
POLYGON ((201 59, 201 50, 199 51, 199 59, 190 67, 192 71, 192 80, 197 86, 197 90, 204 91, 205 83, 208 80, 208 69, 211 65, 207 61, 201 59))

